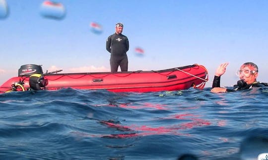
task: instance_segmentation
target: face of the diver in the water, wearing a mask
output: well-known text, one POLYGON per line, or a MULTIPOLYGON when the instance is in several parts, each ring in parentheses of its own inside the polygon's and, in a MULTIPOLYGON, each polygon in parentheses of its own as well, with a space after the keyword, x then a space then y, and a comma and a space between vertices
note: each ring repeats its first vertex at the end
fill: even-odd
POLYGON ((253 66, 242 65, 239 70, 239 78, 247 84, 252 84, 258 77, 258 72, 255 71, 253 66))

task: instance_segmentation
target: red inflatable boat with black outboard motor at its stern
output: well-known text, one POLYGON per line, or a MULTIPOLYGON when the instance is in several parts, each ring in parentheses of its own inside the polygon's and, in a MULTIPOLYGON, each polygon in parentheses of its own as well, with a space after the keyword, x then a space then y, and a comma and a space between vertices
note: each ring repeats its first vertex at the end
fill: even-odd
POLYGON ((112 92, 176 91, 191 87, 203 89, 208 80, 206 68, 199 64, 155 71, 58 73, 60 71, 43 73, 40 65, 22 65, 17 77, 0 86, 0 93, 62 88, 112 92))

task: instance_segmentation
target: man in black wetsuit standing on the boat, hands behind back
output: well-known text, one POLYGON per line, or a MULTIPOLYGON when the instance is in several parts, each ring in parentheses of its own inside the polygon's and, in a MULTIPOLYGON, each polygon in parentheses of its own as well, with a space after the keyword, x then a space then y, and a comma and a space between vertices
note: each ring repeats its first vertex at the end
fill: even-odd
POLYGON ((117 72, 118 66, 120 66, 121 71, 128 71, 129 40, 127 36, 122 34, 122 23, 117 23, 115 30, 115 33, 109 36, 106 41, 106 50, 111 53, 111 72, 117 72))

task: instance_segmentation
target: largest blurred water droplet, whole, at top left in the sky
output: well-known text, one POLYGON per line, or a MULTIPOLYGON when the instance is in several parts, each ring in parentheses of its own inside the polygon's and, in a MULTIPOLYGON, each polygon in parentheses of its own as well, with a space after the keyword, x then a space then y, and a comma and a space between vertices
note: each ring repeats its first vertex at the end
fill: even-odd
POLYGON ((45 0, 41 4, 40 14, 46 18, 61 20, 65 17, 66 11, 62 3, 45 0))

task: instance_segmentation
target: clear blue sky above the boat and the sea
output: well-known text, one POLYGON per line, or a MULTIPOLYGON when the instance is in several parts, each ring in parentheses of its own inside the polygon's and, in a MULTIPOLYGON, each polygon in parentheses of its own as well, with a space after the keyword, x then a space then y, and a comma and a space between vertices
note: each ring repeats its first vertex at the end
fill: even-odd
POLYGON ((105 45, 117 22, 130 41, 131 71, 198 63, 211 82, 217 66, 229 62, 221 85, 232 86, 240 65, 252 61, 259 66, 257 80, 268 82, 268 0, 54 0, 66 9, 61 20, 41 16, 44 0, 5 1, 0 84, 17 76, 23 64, 62 73, 109 71, 105 45), (91 32, 91 22, 101 24, 103 32, 91 32), (144 56, 135 55, 136 47, 144 56))

